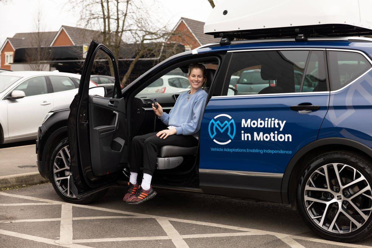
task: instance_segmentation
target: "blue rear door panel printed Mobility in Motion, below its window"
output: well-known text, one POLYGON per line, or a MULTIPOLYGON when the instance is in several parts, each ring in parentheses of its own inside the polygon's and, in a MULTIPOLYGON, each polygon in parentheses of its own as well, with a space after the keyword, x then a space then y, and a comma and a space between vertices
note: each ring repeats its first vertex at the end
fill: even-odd
MULTIPOLYGON (((201 124, 201 189, 206 193, 280 202, 285 168, 296 151, 317 139, 328 102, 329 93, 212 98, 201 124), (305 102, 318 105, 320 109, 310 113, 291 110, 291 106, 305 102), (228 115, 231 119, 219 115, 228 115), (211 136, 209 130, 218 120, 220 123, 232 120, 233 138, 219 132, 218 128, 216 135, 211 136), (255 122, 255 127, 245 126, 252 121, 264 125, 265 120, 272 120, 274 127, 257 127, 255 122), (275 126, 275 120, 285 121, 282 130, 279 123, 275 126), (279 141, 279 137, 284 139, 279 141), (231 141, 223 145, 216 143, 227 140, 231 141)), ((213 131, 211 133, 213 135, 213 131)))

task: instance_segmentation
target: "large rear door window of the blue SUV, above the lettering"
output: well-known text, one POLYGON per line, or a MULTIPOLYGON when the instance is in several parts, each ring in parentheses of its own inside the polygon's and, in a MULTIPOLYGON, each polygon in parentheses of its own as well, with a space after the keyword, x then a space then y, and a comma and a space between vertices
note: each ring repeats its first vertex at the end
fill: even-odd
POLYGON ((299 92, 308 55, 305 50, 235 52, 225 86, 238 95, 299 92))

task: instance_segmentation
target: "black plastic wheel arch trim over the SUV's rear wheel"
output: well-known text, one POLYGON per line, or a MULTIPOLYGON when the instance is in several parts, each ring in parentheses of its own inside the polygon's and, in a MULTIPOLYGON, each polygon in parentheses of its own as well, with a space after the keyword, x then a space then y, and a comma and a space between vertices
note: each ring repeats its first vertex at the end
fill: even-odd
POLYGON ((324 138, 304 146, 292 157, 283 174, 281 189, 283 203, 291 204, 292 208, 296 209, 296 186, 299 173, 314 156, 335 150, 355 151, 372 158, 370 147, 352 139, 324 138))

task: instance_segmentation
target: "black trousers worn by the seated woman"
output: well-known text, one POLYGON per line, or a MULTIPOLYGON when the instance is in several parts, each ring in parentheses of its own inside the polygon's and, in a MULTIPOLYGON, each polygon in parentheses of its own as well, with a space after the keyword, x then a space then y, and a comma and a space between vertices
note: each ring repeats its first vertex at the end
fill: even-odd
POLYGON ((192 135, 170 135, 166 139, 156 136, 158 132, 135 136, 132 139, 131 150, 129 151, 129 165, 131 172, 138 173, 142 167, 143 173, 153 175, 156 158, 159 149, 164 145, 192 147, 198 145, 198 139, 192 135))

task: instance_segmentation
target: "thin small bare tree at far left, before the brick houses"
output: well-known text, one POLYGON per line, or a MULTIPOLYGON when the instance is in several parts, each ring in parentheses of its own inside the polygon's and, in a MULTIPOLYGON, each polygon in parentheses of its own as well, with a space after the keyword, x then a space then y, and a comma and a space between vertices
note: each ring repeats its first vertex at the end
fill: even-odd
POLYGON ((34 19, 35 32, 31 33, 31 38, 28 41, 28 49, 26 49, 25 61, 26 68, 30 71, 45 71, 48 70, 48 65, 45 61, 51 58, 50 50, 45 44, 46 32, 42 32, 45 27, 42 23, 42 11, 39 8, 34 19))

